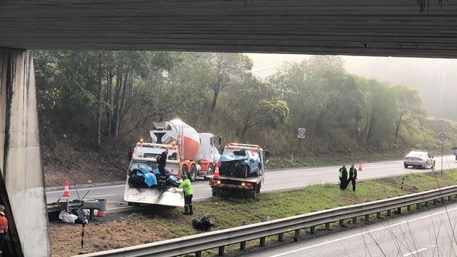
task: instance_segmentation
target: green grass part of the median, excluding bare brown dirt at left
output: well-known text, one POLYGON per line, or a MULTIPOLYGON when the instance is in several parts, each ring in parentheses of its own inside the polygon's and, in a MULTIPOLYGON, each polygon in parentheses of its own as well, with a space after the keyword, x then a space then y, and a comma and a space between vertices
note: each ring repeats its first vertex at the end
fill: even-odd
POLYGON ((432 173, 413 174, 380 180, 366 180, 357 183, 357 191, 340 191, 338 185, 310 185, 304 190, 274 192, 259 195, 257 199, 213 197, 204 202, 194 202, 195 214, 183 216, 181 209, 165 209, 155 214, 134 213, 134 219, 154 225, 166 226, 169 235, 185 236, 195 234, 191 219, 209 213, 214 221, 214 230, 233 228, 270 219, 294 216, 323 209, 356 203, 375 201, 406 195, 413 192, 432 190, 457 183, 457 171, 445 171, 443 176, 432 173), (404 178, 404 186, 401 182, 404 178), (153 215, 153 216, 152 216, 153 215), (176 223, 176 218, 179 220, 176 223))

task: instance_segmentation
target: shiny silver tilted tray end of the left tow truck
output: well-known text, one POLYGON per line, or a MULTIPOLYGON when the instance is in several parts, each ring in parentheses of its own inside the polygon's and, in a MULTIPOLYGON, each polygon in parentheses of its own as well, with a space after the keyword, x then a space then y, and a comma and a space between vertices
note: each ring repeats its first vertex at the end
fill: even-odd
POLYGON ((168 187, 130 187, 125 185, 124 201, 138 204, 158 204, 184 207, 184 193, 182 189, 168 187))

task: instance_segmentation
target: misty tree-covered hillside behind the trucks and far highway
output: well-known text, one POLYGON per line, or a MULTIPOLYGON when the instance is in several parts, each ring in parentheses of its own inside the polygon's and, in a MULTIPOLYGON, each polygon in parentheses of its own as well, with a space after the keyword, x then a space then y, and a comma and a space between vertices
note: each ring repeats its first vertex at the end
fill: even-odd
POLYGON ((237 53, 36 51, 34 65, 49 186, 123 180, 136 141, 176 117, 223 143, 262 145, 271 168, 435 151, 440 131, 456 142, 455 122, 427 117, 417 91, 349 74, 337 56, 263 80, 237 53))

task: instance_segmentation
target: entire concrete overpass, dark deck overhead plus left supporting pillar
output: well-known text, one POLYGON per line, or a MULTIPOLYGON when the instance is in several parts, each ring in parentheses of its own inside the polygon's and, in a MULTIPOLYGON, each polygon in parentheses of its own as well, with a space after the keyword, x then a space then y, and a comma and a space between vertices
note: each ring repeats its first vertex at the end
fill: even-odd
POLYGON ((457 1, 1 1, 0 202, 18 256, 50 255, 34 49, 456 58, 457 1))

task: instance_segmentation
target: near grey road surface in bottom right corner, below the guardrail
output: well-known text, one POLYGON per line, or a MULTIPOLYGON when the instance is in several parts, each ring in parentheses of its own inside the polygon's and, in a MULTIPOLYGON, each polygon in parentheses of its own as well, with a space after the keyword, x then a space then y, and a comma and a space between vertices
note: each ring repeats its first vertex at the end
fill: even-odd
POLYGON ((457 203, 360 225, 246 257, 457 256, 457 203), (447 210, 446 210, 447 209, 447 210))

